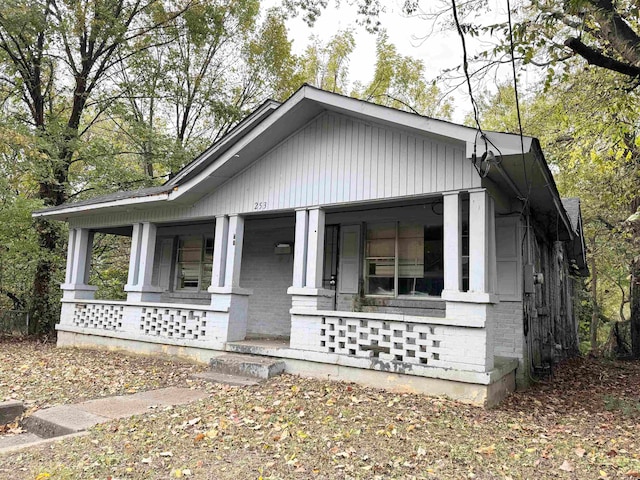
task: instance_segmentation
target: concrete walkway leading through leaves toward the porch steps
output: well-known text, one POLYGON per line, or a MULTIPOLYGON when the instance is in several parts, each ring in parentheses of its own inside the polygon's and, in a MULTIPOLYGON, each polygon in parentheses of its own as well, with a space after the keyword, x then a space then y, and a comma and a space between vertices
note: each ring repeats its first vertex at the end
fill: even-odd
POLYGON ((0 437, 0 454, 79 434, 99 423, 144 414, 152 407, 182 405, 207 395, 202 390, 168 387, 37 410, 24 421, 28 433, 0 437))

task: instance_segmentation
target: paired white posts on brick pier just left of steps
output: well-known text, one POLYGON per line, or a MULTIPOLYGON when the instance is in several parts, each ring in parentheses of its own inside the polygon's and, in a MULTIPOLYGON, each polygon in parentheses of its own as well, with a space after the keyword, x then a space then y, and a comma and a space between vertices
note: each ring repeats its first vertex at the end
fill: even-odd
POLYGON ((240 287, 244 217, 216 217, 211 273, 211 305, 216 339, 222 342, 244 340, 247 335, 249 296, 252 290, 240 287))

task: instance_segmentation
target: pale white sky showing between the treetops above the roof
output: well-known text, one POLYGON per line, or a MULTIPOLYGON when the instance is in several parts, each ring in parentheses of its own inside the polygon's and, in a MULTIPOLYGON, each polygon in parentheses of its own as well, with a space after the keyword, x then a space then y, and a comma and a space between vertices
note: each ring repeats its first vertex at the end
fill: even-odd
MULTIPOLYGON (((263 2, 265 7, 279 5, 279 0, 263 2)), ((422 16, 408 17, 402 13, 401 0, 385 1, 385 12, 380 21, 389 36, 389 40, 397 47, 402 55, 408 55, 423 61, 427 80, 436 79, 446 69, 456 68, 462 64, 462 45, 460 37, 453 28, 443 28, 434 24, 433 20, 422 16)), ((448 7, 450 3, 440 0, 429 0, 423 4, 432 5, 433 11, 448 7)), ((503 21, 506 18, 506 0, 490 0, 491 14, 480 18, 481 21, 503 21)), ((444 20, 451 21, 450 13, 443 16, 444 20)), ((287 21, 289 37, 293 40, 293 50, 301 54, 309 44, 311 35, 320 37, 324 42, 337 32, 352 28, 356 38, 356 49, 350 57, 349 79, 353 83, 368 82, 375 68, 375 42, 376 35, 368 33, 364 27, 357 25, 355 7, 347 5, 345 0, 340 2, 340 8, 335 7, 335 2, 330 0, 329 7, 323 11, 313 27, 309 27, 299 16, 287 21)), ((478 19, 474 19, 478 20, 478 19)), ((487 38, 484 41, 466 38, 467 49, 470 55, 477 52, 492 41, 487 38)), ((528 80, 524 74, 519 81, 528 80)), ((493 90, 498 81, 512 81, 510 68, 502 68, 497 74, 486 79, 483 88, 493 90)), ((438 82, 443 92, 451 92, 450 98, 454 102, 453 121, 462 122, 471 112, 472 107, 466 84, 456 82, 445 84, 438 82), (454 88, 459 85, 457 88, 454 88)))

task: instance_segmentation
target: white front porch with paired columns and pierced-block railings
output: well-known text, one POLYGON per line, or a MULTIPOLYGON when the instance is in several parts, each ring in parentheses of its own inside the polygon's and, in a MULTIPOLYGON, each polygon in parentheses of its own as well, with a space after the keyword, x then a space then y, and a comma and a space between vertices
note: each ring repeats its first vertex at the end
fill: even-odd
POLYGON ((58 341, 199 361, 251 353, 292 373, 493 403, 518 364, 494 355, 494 222, 476 189, 135 224, 126 300, 92 298, 94 231, 71 229, 58 341))

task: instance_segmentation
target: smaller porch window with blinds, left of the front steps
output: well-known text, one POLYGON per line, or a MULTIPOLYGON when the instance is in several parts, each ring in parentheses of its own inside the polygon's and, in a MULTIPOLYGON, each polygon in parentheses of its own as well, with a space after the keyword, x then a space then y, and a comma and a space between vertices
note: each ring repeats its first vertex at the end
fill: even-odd
POLYGON ((211 285, 213 238, 178 237, 176 289, 206 290, 211 285))

